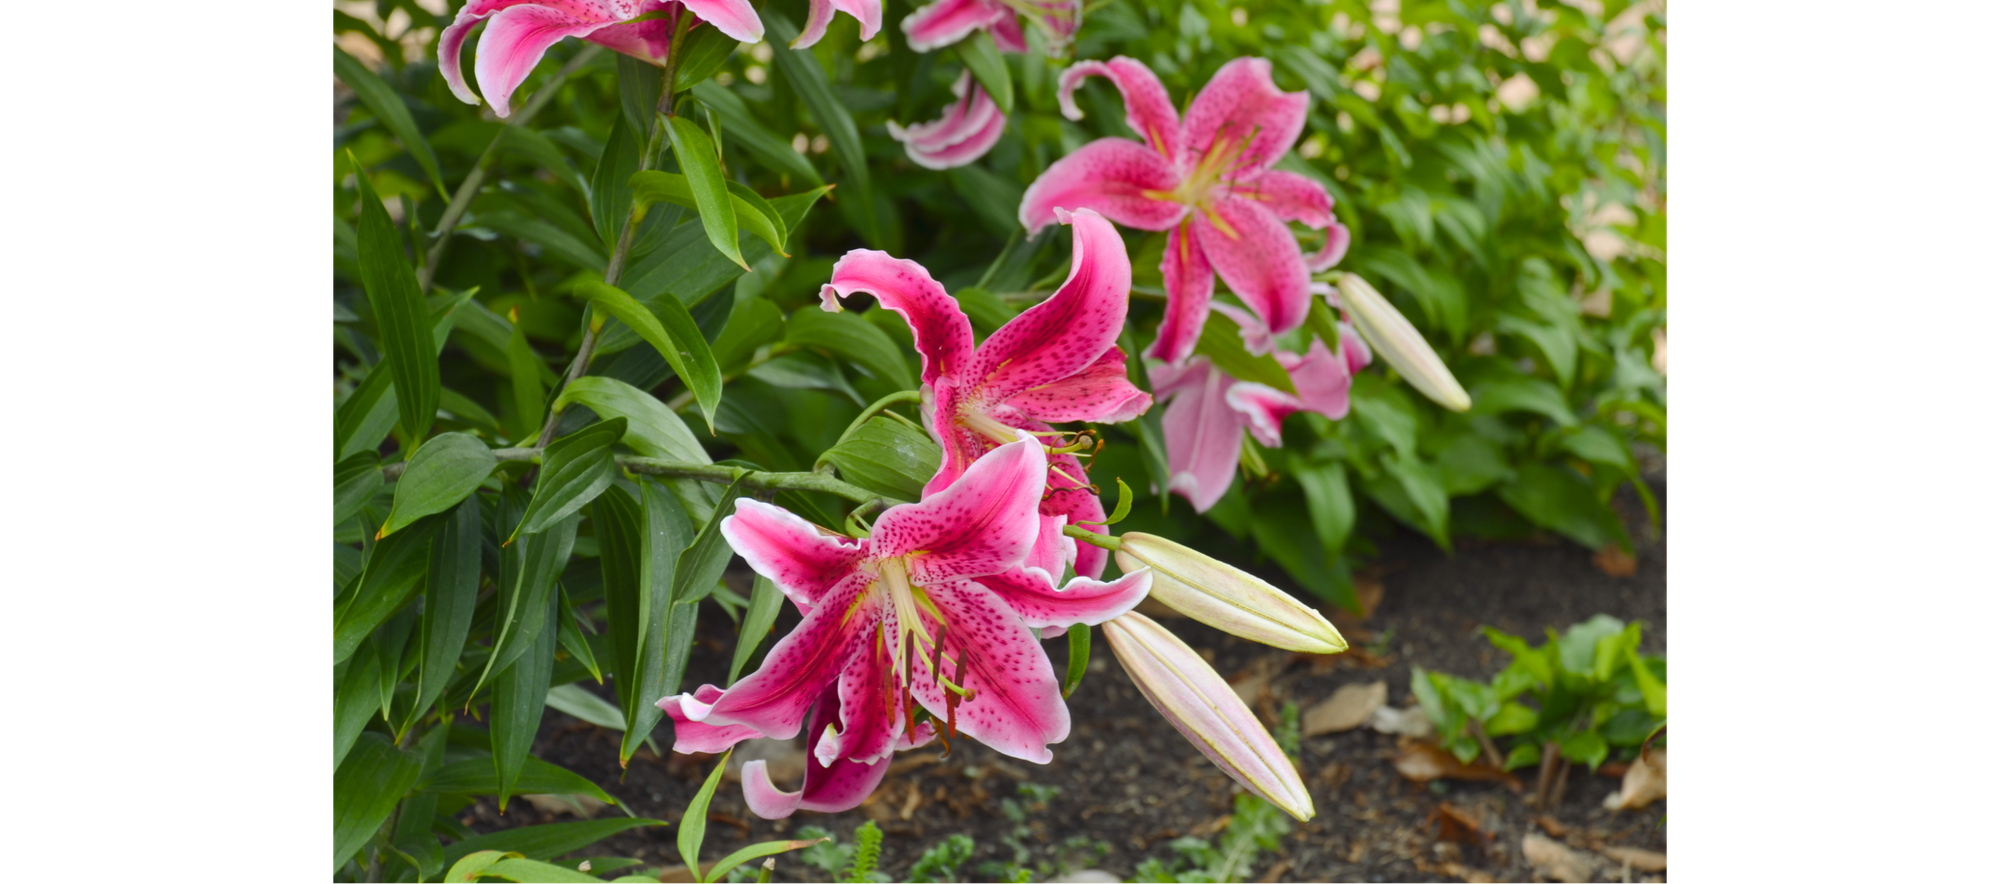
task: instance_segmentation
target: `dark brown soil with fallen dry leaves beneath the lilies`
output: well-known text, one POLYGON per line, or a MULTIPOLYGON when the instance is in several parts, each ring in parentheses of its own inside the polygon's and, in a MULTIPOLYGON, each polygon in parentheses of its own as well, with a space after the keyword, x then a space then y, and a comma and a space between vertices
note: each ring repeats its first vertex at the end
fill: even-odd
MULTIPOLYGON (((1306 658, 1242 642, 1192 620, 1162 622, 1190 646, 1204 650, 1204 656, 1212 652, 1216 670, 1226 678, 1276 668, 1270 696, 1256 704, 1266 716, 1288 700, 1308 708, 1344 684, 1374 680, 1388 682, 1390 706, 1410 706, 1412 664, 1466 678, 1490 678, 1506 666, 1508 656, 1478 634, 1482 624, 1538 642, 1544 628, 1560 632, 1602 612, 1622 620, 1644 620, 1642 650, 1664 656, 1670 638, 1666 470, 1656 470, 1650 484, 1660 500, 1658 538, 1650 536, 1644 510, 1630 488, 1618 498, 1638 550, 1638 570, 1632 576, 1610 576, 1592 562, 1590 550, 1554 538, 1526 542, 1460 538, 1454 556, 1412 532, 1386 538, 1382 556, 1370 570, 1384 586, 1382 602, 1366 624, 1344 624, 1350 642, 1370 652, 1350 652, 1314 666, 1306 658)), ((1282 576, 1272 578, 1282 584, 1282 576)), ((796 622, 790 606, 786 616, 790 620, 780 620, 780 628, 796 622)), ((728 672, 734 634, 728 632, 724 618, 704 618, 704 630, 710 624, 716 626, 714 634, 698 636, 694 648, 686 680, 690 686, 704 680, 720 684, 728 672)), ((1064 640, 1046 642, 1046 648, 1060 672, 1066 658, 1064 640)), ((600 692, 608 696, 608 690, 600 692)), ((880 870, 896 880, 902 880, 926 846, 954 832, 964 832, 978 844, 960 880, 986 880, 968 872, 986 860, 1016 858, 1016 848, 1006 844, 1010 836, 1032 854, 1028 866, 1042 862, 1054 868, 1102 868, 1124 878, 1148 856, 1172 858, 1168 842, 1174 838, 1214 836, 1224 824, 1236 784, 1160 720, 1116 666, 1102 634, 1092 648, 1090 676, 1070 698, 1070 712, 1072 734, 1054 746, 1056 760, 1048 766, 1002 758, 972 740, 956 742, 950 760, 936 760, 938 748, 928 746, 896 756, 890 776, 874 798, 846 814, 800 812, 790 820, 758 820, 744 806, 742 790, 726 782, 712 804, 714 822, 708 826, 704 858, 720 858, 750 842, 796 834, 802 826, 828 828, 842 842, 852 842, 852 830, 872 818, 888 832, 880 870), (1034 806, 1018 794, 1018 782, 1056 786, 1060 792, 1044 806, 1034 806), (1024 824, 1006 818, 1008 798, 1014 798, 1016 808, 1028 808, 1024 824)), ((670 724, 662 724, 656 740, 660 746, 670 746, 670 724)), ((1280 852, 1260 854, 1246 880, 1258 884, 1460 878, 1528 882, 1532 874, 1522 858, 1522 838, 1530 832, 1558 834, 1558 840, 1568 840, 1580 850, 1634 846, 1668 852, 1670 824, 1664 822, 1668 802, 1636 812, 1608 812, 1602 802, 1618 790, 1616 778, 1590 776, 1584 768, 1576 768, 1568 776, 1562 802, 1538 812, 1528 806, 1534 768, 1520 770, 1526 774, 1526 794, 1492 782, 1438 780, 1420 786, 1390 766, 1396 752, 1396 736, 1366 726, 1306 738, 1300 770, 1318 816, 1294 826, 1280 852), (1490 838, 1440 840, 1438 808, 1444 802, 1470 814, 1490 838), (1540 826, 1538 816, 1552 824, 1540 826)), ((620 782, 616 732, 556 710, 548 710, 534 754, 602 784, 636 814, 662 820, 678 820, 712 766, 704 756, 690 760, 670 754, 662 760, 642 750, 620 782)), ((796 782, 780 786, 796 788, 796 782)), ((558 822, 526 802, 512 804, 502 820, 490 798, 466 808, 462 818, 480 832, 558 822)), ((630 830, 576 856, 632 856, 650 870, 680 866, 674 828, 666 826, 630 830)), ((780 856, 774 880, 818 878, 824 874, 780 856)), ((1648 876, 1634 870, 1624 878, 1620 870, 1610 870, 1598 880, 1640 882, 1648 876)))

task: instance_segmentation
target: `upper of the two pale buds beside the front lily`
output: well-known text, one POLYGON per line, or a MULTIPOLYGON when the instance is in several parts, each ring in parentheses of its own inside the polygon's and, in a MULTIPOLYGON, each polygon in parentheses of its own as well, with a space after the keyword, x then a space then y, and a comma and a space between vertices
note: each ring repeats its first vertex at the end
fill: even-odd
POLYGON ((1152 568, 1152 598, 1232 636, 1308 654, 1340 654, 1348 640, 1290 592, 1152 534, 1118 536, 1118 568, 1152 568))

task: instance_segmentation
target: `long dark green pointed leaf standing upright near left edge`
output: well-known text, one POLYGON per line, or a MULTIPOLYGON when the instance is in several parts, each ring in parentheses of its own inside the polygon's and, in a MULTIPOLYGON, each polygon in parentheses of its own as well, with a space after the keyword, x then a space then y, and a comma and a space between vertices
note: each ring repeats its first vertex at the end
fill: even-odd
MULTIPOLYGON (((336 48, 334 54, 340 54, 336 48)), ((348 154, 352 162, 354 154, 348 154)), ((360 170, 360 164, 354 164, 360 170)), ((432 338, 430 310, 424 294, 416 286, 416 272, 402 254, 402 238, 396 224, 382 208, 374 184, 366 174, 356 172, 354 182, 362 192, 362 218, 358 248, 362 264, 362 288, 368 290, 368 306, 376 314, 376 328, 382 332, 382 362, 388 362, 396 380, 396 410, 402 414, 402 428, 416 440, 430 432, 438 416, 438 342, 432 338)))

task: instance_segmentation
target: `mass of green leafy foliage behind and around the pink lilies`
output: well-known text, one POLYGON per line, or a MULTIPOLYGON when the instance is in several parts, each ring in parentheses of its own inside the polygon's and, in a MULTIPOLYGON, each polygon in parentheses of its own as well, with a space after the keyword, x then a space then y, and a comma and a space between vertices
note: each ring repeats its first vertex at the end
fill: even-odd
MULTIPOLYGON (((650 732, 658 716, 646 720, 634 708, 644 704, 592 706, 588 692, 562 692, 582 678, 616 682, 618 672, 640 670, 604 634, 618 628, 608 610, 620 604, 622 574, 632 574, 636 594, 666 580, 640 624, 672 622, 666 640, 682 642, 680 660, 704 600, 736 620, 776 610, 716 588, 726 548, 712 562, 682 554, 700 550, 716 504, 732 496, 688 480, 632 482, 610 466, 612 454, 768 470, 808 470, 824 456, 848 482, 912 498, 910 476, 928 476, 922 460, 936 456, 920 434, 876 420, 834 448, 866 402, 916 386, 916 356, 886 310, 818 310, 832 262, 850 248, 914 258, 960 298, 976 332, 990 334, 1068 270, 1062 228, 1022 236, 1014 218, 1024 186, 1092 138, 1132 136, 1102 80, 1080 90, 1080 122, 1058 114, 1064 62, 1042 58, 1030 28, 1030 54, 1006 56, 1014 106, 1000 144, 970 166, 918 168, 884 124, 940 116, 960 72, 956 52, 910 52, 896 28, 910 12, 904 0, 888 2, 882 34, 868 44, 840 16, 818 46, 794 52, 784 38, 806 4, 770 0, 768 42, 726 58, 720 46, 712 78, 690 74, 698 84, 680 112, 716 136, 724 174, 768 200, 790 256, 744 234, 740 252, 754 268, 744 274, 692 208, 656 204, 634 230, 620 288, 664 326, 684 316, 690 324, 676 340, 700 332, 722 394, 704 416, 706 402, 680 380, 686 372, 614 320, 588 374, 654 400, 620 404, 628 394, 618 384, 558 386, 618 238, 658 70, 574 40, 558 44, 520 92, 556 82, 550 100, 526 126, 504 126, 444 86, 436 30, 458 2, 428 6, 382 0, 332 12, 334 872, 362 874, 350 858, 366 860, 374 844, 378 856, 408 858, 390 860, 390 880, 436 874, 488 846, 560 856, 654 822, 538 826, 548 832, 520 830, 530 834, 514 840, 474 838, 452 822, 474 794, 594 794, 582 778, 562 780, 566 772, 526 756, 544 692, 570 714, 630 728, 628 754, 650 732), (574 72, 558 80, 564 66, 574 72), (476 170, 482 186, 440 244, 436 226, 476 170), (374 224, 368 184, 382 204, 374 224), (830 202, 814 202, 822 184, 838 186, 830 202), (372 308, 368 274, 386 270, 362 260, 368 242, 376 254, 408 248, 414 280, 376 282, 420 292, 422 302, 402 304, 422 310, 372 308), (430 330, 424 340, 440 356, 430 366, 434 402, 418 380, 422 352, 388 346, 414 338, 388 326, 430 330), (392 384, 400 378, 412 380, 392 384), (418 394, 398 396, 410 384, 418 394), (544 462, 538 486, 520 488, 528 464, 498 462, 496 472, 486 454, 532 444, 558 394, 570 406, 558 436, 574 450, 572 498, 584 508, 548 502, 558 494, 540 484, 560 478, 558 464, 544 462), (432 426, 408 430, 432 412, 432 426), (686 426, 660 424, 670 414, 686 426), (626 424, 608 428, 600 416, 626 424), (426 486, 428 500, 398 490, 408 474, 384 470, 418 438, 432 438, 420 460, 446 476, 426 486), (468 498, 474 488, 482 490, 468 498), (606 488, 618 494, 592 502, 606 488), (544 530, 502 548, 536 512, 544 530), (392 530, 376 540, 382 526, 392 530), (358 598, 374 600, 374 610, 354 610, 358 598), (490 712, 454 720, 466 708, 490 712), (518 780, 508 786, 508 776, 518 780), (390 814, 392 834, 380 834, 390 814), (434 832, 460 840, 440 848, 434 832)), ((1630 482, 1650 508, 1634 444, 1668 448, 1664 4, 1246 6, 1256 8, 1092 4, 1074 58, 1138 58, 1178 102, 1244 54, 1272 58, 1282 88, 1310 90, 1306 134, 1280 166, 1326 184, 1354 232, 1338 270, 1368 276, 1412 318, 1474 408, 1450 414, 1380 368, 1364 372, 1348 420, 1294 418, 1284 450, 1246 458, 1246 480, 1204 516, 1150 492, 1166 486, 1162 454, 1148 442, 1160 438, 1154 408, 1108 434, 1094 466, 1094 480, 1112 490, 1106 508, 1116 502, 1112 476, 1126 478, 1140 494, 1126 530, 1276 564, 1302 590, 1348 606, 1352 568, 1374 550, 1370 534, 1394 522, 1440 546, 1454 534, 1532 530, 1590 548, 1630 546, 1608 500, 1630 482)), ((668 148, 652 168, 680 170, 668 148)), ((1136 282, 1126 352, 1136 354, 1160 316, 1164 236, 1128 230, 1126 238, 1136 282)), ((850 506, 820 492, 782 492, 780 502, 822 524, 838 524, 850 506)), ((754 666, 756 642, 746 644, 738 670, 754 666)), ((674 648, 656 652, 672 658, 674 648)), ((678 670, 668 672, 668 684, 646 692, 676 690, 678 670)))

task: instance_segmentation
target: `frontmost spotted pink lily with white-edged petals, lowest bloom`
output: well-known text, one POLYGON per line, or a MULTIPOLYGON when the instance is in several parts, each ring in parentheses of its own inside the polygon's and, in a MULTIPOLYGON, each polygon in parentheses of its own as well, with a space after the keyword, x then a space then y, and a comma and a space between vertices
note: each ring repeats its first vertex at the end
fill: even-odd
POLYGON ((1020 434, 950 488, 884 510, 860 540, 738 500, 724 540, 804 620, 736 686, 660 700, 674 718, 674 752, 788 740, 818 706, 800 792, 780 792, 762 766, 744 766, 744 794, 764 818, 858 806, 888 770, 878 762, 936 736, 934 722, 946 738, 964 734, 1048 764, 1048 744, 1070 734, 1070 710, 1034 630, 1124 614, 1146 596, 1152 572, 1108 584, 1076 578, 1060 590, 1024 574, 1046 472, 1040 440, 1020 434))

